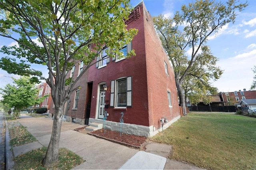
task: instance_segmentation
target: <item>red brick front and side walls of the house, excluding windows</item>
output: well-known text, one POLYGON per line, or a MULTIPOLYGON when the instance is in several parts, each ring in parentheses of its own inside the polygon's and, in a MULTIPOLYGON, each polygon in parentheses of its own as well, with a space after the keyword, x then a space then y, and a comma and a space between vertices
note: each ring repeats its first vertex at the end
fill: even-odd
POLYGON ((126 109, 105 109, 109 113, 108 121, 119 122, 120 113, 124 113, 124 123, 160 127, 159 119, 166 117, 168 121, 180 115, 178 97, 174 81, 174 73, 156 35, 153 22, 140 5, 135 9, 132 19, 128 20, 128 29, 138 29, 132 40, 132 48, 136 56, 118 62, 107 63, 100 69, 90 67, 88 82, 93 82, 90 118, 97 118, 98 84, 106 82, 105 101, 110 104, 110 82, 120 77, 132 76, 132 107, 126 109), (169 75, 165 73, 164 61, 168 64, 169 75), (168 106, 167 90, 172 95, 172 106, 168 106))

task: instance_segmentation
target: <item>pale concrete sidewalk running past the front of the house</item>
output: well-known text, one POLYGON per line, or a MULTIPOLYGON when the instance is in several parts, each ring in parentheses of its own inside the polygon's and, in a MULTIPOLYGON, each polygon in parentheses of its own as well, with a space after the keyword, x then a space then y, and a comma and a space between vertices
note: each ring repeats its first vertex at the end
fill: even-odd
MULTIPOLYGON (((52 119, 20 116, 18 122, 26 127, 38 141, 13 148, 14 156, 30 150, 48 146, 52 133, 52 119)), ((145 151, 129 148, 108 140, 75 131, 83 127, 75 123, 62 122, 60 148, 67 148, 81 156, 86 162, 75 167, 83 169, 200 169, 189 164, 170 160, 171 146, 148 144, 145 151)))

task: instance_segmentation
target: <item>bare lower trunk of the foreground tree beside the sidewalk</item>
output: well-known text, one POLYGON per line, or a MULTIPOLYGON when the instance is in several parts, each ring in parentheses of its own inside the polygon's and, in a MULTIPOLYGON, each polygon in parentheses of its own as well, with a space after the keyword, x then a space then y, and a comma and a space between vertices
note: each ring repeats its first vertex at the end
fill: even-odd
POLYGON ((46 151, 46 155, 42 160, 42 166, 46 168, 52 167, 59 159, 60 129, 62 125, 63 107, 55 107, 54 120, 52 125, 52 137, 46 151))

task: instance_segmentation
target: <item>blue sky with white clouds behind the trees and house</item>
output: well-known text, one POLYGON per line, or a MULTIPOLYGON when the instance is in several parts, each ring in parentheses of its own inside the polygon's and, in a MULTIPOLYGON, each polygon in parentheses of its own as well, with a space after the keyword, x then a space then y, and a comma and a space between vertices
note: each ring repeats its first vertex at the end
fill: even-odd
MULTIPOLYGON (((130 3, 136 6, 140 2, 141 0, 131 0, 130 3)), ((182 4, 190 2, 194 1, 144 0, 151 16, 163 14, 170 17, 180 10, 182 4)), ((240 0, 240 2, 246 1, 240 0)), ((218 34, 212 35, 207 43, 213 55, 219 58, 217 65, 224 69, 222 77, 212 83, 222 92, 249 90, 253 81, 252 68, 256 65, 256 0, 248 0, 248 4, 244 11, 238 13, 234 24, 224 26, 218 34)), ((15 43, 12 40, 0 37, 0 47, 13 44, 15 43)), ((0 57, 3 56, 0 53, 0 57)), ((44 75, 46 74, 45 70, 44 75)), ((16 75, 8 75, 6 71, 0 69, 0 88, 12 82, 10 77, 17 78, 16 75)))

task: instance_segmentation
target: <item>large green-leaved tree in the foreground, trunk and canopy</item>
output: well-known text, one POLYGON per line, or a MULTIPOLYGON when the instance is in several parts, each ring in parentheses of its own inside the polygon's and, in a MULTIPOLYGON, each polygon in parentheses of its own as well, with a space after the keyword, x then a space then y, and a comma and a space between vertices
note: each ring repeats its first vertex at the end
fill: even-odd
MULTIPOLYGON (((129 0, 2 0, 0 10, 0 36, 18 42, 18 46, 2 47, 7 56, 0 59, 0 67, 8 73, 38 76, 52 90, 53 130, 42 161, 42 166, 50 167, 58 161, 64 104, 103 45, 112 50, 108 56, 122 55, 119 49, 137 33, 124 24, 132 8, 129 0), (80 75, 67 76, 80 61, 85 65, 80 75), (46 65, 49 76, 31 69, 30 63, 46 65)), ((134 54, 132 50, 127 57, 134 54)))

